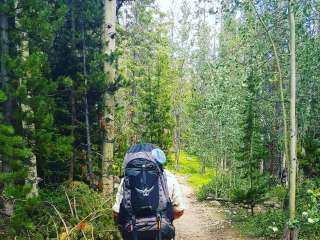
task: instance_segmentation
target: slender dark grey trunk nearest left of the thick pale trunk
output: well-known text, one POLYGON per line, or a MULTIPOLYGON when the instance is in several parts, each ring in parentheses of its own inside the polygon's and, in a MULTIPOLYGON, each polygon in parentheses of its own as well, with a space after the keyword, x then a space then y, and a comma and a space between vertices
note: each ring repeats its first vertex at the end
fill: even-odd
POLYGON ((87 139, 87 159, 89 166, 89 179, 90 184, 93 184, 93 165, 91 156, 91 135, 90 135, 90 120, 89 120, 89 105, 88 105, 88 78, 87 78, 87 58, 86 58, 86 41, 85 41, 85 29, 82 22, 82 64, 83 64, 83 76, 85 85, 84 95, 84 107, 85 107, 85 125, 86 125, 86 139, 87 139))

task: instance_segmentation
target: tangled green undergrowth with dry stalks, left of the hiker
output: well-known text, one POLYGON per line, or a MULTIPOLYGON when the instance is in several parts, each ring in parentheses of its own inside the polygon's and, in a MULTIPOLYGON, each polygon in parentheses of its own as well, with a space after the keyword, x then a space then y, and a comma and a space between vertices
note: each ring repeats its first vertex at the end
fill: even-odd
POLYGON ((42 189, 38 198, 16 201, 10 219, 0 219, 0 239, 119 239, 111 201, 81 182, 42 189))

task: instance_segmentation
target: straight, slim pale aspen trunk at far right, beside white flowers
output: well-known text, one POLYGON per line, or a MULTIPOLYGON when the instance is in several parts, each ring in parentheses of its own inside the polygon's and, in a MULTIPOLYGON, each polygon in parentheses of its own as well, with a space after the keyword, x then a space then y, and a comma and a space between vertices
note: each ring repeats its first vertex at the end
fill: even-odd
POLYGON ((289 24, 290 24, 290 77, 291 77, 291 99, 290 99, 290 195, 289 210, 290 220, 296 217, 296 175, 297 175, 297 126, 296 126, 296 36, 295 20, 292 8, 293 1, 289 0, 289 24))

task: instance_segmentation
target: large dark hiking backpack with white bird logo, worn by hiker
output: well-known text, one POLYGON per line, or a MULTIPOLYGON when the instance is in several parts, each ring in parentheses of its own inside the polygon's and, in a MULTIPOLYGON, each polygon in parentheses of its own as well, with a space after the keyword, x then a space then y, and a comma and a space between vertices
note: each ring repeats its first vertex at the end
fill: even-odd
POLYGON ((163 168, 152 157, 151 144, 132 146, 124 160, 119 225, 124 239, 172 239, 173 210, 163 168))

